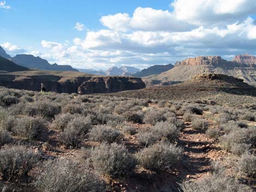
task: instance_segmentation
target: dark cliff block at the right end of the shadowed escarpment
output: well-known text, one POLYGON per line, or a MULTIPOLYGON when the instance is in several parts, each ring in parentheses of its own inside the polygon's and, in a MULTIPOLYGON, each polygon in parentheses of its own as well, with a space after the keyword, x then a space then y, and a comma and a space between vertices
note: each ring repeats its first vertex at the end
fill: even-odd
POLYGON ((118 92, 145 88, 141 78, 136 77, 93 77, 83 82, 79 88, 80 94, 118 92))

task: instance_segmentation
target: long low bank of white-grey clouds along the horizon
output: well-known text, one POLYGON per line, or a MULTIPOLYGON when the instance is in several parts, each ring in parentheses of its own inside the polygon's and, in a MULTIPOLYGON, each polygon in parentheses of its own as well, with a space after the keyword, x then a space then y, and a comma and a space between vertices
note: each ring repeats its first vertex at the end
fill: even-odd
POLYGON ((75 38, 74 45, 68 47, 48 41, 42 41, 42 46, 50 49, 58 63, 81 69, 121 65, 143 68, 198 55, 223 55, 230 59, 238 53, 256 54, 252 51, 256 48, 254 23, 248 17, 225 27, 200 26, 185 32, 102 29, 88 32, 84 39, 75 38))

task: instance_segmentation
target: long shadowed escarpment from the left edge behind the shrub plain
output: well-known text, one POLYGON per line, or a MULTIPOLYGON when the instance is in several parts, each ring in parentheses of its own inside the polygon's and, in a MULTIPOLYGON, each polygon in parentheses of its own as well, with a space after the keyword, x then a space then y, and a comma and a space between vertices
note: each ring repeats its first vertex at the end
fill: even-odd
POLYGON ((142 89, 145 84, 140 78, 94 77, 77 72, 19 71, 0 72, 0 86, 13 89, 40 91, 41 83, 46 91, 94 94, 142 89))

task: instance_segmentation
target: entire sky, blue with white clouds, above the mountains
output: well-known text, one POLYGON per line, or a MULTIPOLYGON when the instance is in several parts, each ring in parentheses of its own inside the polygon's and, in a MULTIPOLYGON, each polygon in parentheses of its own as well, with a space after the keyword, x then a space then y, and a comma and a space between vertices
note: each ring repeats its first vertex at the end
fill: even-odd
POLYGON ((255 0, 0 0, 0 45, 77 69, 256 54, 255 0))

